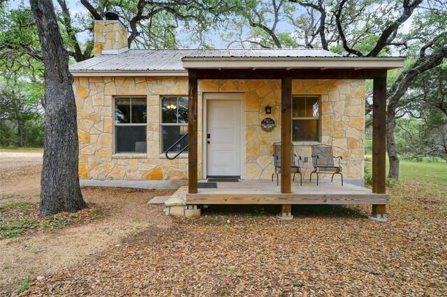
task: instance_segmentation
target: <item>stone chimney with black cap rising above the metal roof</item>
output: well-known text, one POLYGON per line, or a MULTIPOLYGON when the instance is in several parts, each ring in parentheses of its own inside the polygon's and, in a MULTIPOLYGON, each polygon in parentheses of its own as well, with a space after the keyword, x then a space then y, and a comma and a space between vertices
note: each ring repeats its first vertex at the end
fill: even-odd
POLYGON ((107 20, 95 21, 95 56, 117 55, 129 50, 127 47, 127 31, 119 22, 118 14, 105 13, 107 20))

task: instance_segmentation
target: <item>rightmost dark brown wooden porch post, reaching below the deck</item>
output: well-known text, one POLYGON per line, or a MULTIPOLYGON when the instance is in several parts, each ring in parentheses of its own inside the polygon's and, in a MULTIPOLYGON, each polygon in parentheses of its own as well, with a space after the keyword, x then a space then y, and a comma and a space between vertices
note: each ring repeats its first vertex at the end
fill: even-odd
MULTIPOLYGON (((386 193, 386 70, 374 78, 372 96, 372 192, 386 193)), ((386 219, 386 205, 372 205, 372 216, 386 219)))

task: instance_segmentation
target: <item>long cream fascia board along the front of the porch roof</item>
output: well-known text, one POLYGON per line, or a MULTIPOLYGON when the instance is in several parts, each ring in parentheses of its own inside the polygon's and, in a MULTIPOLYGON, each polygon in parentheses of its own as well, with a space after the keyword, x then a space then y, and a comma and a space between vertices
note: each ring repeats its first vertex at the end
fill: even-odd
POLYGON ((399 59, 197 59, 184 58, 188 68, 402 68, 399 59))

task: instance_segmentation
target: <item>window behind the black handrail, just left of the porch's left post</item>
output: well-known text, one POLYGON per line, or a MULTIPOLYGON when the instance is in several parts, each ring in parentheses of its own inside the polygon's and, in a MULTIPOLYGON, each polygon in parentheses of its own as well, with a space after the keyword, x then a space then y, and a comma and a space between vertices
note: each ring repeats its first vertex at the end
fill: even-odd
MULTIPOLYGON (((188 133, 188 97, 161 97, 161 151, 166 152, 179 138, 188 133)), ((188 145, 188 137, 170 152, 179 152, 188 145)), ((185 150, 187 152, 188 149, 185 150)))

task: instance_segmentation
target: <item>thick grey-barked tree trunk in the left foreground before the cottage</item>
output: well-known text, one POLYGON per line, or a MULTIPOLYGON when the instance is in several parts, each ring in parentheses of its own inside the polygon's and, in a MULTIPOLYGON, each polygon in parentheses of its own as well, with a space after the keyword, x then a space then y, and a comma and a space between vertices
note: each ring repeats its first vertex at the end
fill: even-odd
POLYGON ((87 208, 78 176, 78 128, 68 52, 51 0, 31 0, 45 65, 45 140, 41 217, 87 208))

